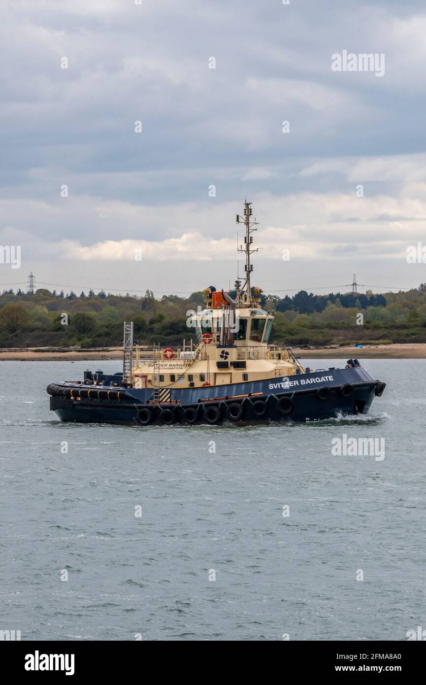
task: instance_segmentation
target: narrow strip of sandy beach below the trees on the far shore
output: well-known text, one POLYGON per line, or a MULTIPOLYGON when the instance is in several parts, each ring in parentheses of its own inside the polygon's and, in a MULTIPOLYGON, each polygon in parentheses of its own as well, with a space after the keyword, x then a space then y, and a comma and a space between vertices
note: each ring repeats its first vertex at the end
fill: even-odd
MULTIPOLYGON (((319 349, 299 349, 293 347, 295 356, 299 359, 426 359, 426 345, 424 343, 407 345, 364 345, 355 347, 321 347, 319 349)), ((121 359, 123 350, 120 347, 102 347, 90 350, 81 349, 52 349, 38 347, 31 349, 3 349, 0 351, 0 361, 19 362, 60 362, 77 360, 107 360, 121 359)), ((147 353, 149 358, 149 353, 147 353)))

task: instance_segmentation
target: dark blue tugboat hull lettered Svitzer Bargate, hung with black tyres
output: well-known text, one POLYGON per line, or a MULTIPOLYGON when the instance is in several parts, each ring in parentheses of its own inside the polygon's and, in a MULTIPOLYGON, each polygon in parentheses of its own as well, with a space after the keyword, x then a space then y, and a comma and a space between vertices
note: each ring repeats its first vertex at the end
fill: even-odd
POLYGON ((201 388, 171 388, 155 402, 152 389, 51 384, 50 408, 61 421, 123 425, 211 425, 321 421, 340 414, 365 414, 384 383, 361 367, 201 388))

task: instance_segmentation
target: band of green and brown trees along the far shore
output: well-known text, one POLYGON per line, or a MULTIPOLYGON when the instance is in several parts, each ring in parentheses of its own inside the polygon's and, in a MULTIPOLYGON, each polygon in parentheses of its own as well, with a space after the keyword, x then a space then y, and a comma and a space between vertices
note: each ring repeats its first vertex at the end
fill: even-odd
MULTIPOLYGON (((204 297, 202 291, 159 299, 151 290, 142 297, 103 290, 87 295, 7 290, 0 295, 0 347, 118 346, 123 321, 131 320, 140 345, 179 345, 192 336, 187 312, 202 307, 204 297)), ((262 292, 260 298, 264 309, 276 312, 271 343, 426 343, 426 284, 383 295, 300 290, 283 298, 262 292)))

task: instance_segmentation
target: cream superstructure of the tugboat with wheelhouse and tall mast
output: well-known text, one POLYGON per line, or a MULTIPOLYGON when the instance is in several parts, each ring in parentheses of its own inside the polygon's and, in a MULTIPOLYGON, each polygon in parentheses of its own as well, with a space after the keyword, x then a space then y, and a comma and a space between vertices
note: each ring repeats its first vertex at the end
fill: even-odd
POLYGON ((237 222, 245 225, 245 279, 236 281, 236 297, 222 290, 206 288, 205 308, 192 312, 188 328, 195 342, 179 348, 154 349, 150 360, 141 359, 134 348, 131 384, 153 388, 161 399, 168 388, 221 386, 305 373, 305 369, 286 347, 268 345, 275 312, 260 306, 260 288, 251 290, 253 271, 251 254, 256 221, 251 220, 251 203, 245 202, 244 216, 237 222))

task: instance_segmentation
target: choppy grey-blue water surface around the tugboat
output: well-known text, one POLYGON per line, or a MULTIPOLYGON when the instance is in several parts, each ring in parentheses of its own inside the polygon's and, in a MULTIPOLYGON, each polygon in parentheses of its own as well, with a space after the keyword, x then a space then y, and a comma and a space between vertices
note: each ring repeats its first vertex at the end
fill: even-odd
POLYGON ((388 383, 368 416, 268 427, 62 424, 45 387, 87 365, 0 362, 1 630, 404 640, 426 627, 426 360, 364 362, 388 383), (343 434, 385 438, 384 460, 333 456, 343 434))

